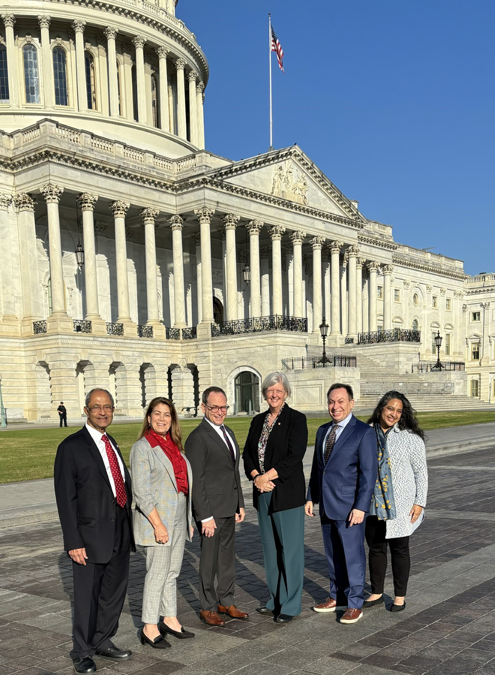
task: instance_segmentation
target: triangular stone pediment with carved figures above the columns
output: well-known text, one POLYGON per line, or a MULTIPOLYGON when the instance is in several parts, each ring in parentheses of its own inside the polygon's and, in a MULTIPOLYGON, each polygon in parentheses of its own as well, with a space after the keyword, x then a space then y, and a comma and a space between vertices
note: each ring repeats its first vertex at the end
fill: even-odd
POLYGON ((298 146, 243 159, 208 174, 210 180, 269 196, 286 205, 301 205, 337 217, 361 221, 353 202, 345 197, 298 146))

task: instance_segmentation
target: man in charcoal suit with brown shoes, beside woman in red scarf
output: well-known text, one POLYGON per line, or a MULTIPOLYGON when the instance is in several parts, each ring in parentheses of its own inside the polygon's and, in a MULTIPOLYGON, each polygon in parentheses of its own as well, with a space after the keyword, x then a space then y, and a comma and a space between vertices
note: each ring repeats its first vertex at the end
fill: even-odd
POLYGON ((205 389, 201 409, 204 418, 184 445, 194 477, 193 515, 201 535, 200 617, 210 626, 225 626, 219 612, 248 618, 234 604, 235 523, 242 522, 245 515, 240 453, 233 431, 223 424, 229 409, 225 391, 220 387, 205 389))

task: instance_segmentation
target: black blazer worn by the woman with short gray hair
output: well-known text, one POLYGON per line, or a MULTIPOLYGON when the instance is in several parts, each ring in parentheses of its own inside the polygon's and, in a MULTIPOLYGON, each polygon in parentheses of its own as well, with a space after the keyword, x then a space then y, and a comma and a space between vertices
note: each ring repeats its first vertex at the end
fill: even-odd
MULTIPOLYGON (((242 458, 245 475, 250 481, 253 480, 252 470, 260 471, 258 441, 267 414, 268 410, 253 418, 248 438, 245 441, 242 458)), ((307 447, 306 416, 298 410, 289 408, 286 403, 268 436, 263 462, 267 471, 274 468, 279 474, 279 477, 273 481, 276 487, 272 492, 269 513, 285 511, 306 503, 303 457, 307 447)), ((253 483, 253 506, 256 510, 258 510, 259 494, 253 483)))

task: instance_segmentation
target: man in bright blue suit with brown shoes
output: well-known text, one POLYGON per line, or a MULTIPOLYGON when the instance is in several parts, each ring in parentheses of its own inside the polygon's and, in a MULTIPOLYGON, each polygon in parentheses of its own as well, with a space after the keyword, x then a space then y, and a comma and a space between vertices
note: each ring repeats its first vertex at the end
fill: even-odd
POLYGON ((378 475, 376 435, 353 416, 352 387, 333 384, 326 398, 332 421, 316 432, 305 512, 314 516, 314 504, 320 504, 330 597, 313 609, 334 612, 344 604, 340 621, 354 624, 363 616, 364 519, 378 475))

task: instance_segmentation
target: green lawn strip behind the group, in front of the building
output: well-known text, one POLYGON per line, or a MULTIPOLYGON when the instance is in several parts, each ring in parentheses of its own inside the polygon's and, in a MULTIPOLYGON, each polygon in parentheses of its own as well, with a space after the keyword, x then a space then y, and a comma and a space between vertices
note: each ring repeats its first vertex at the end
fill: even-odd
MULTIPOLYGON (((459 427, 459 425, 495 422, 495 412, 420 412, 419 423, 423 429, 459 427)), ((363 419, 363 418, 361 418, 363 419)), ((314 444, 316 429, 328 417, 308 418, 309 444, 314 444)), ((200 422, 200 418, 181 421, 184 439, 200 422)), ((227 420, 239 445, 243 446, 251 419, 232 417, 227 420)), ((129 451, 138 435, 140 424, 113 424, 111 434, 117 439, 127 461, 129 451)), ((76 427, 67 429, 26 429, 0 433, 0 483, 29 481, 53 476, 53 460, 61 439, 74 433, 76 427)))

